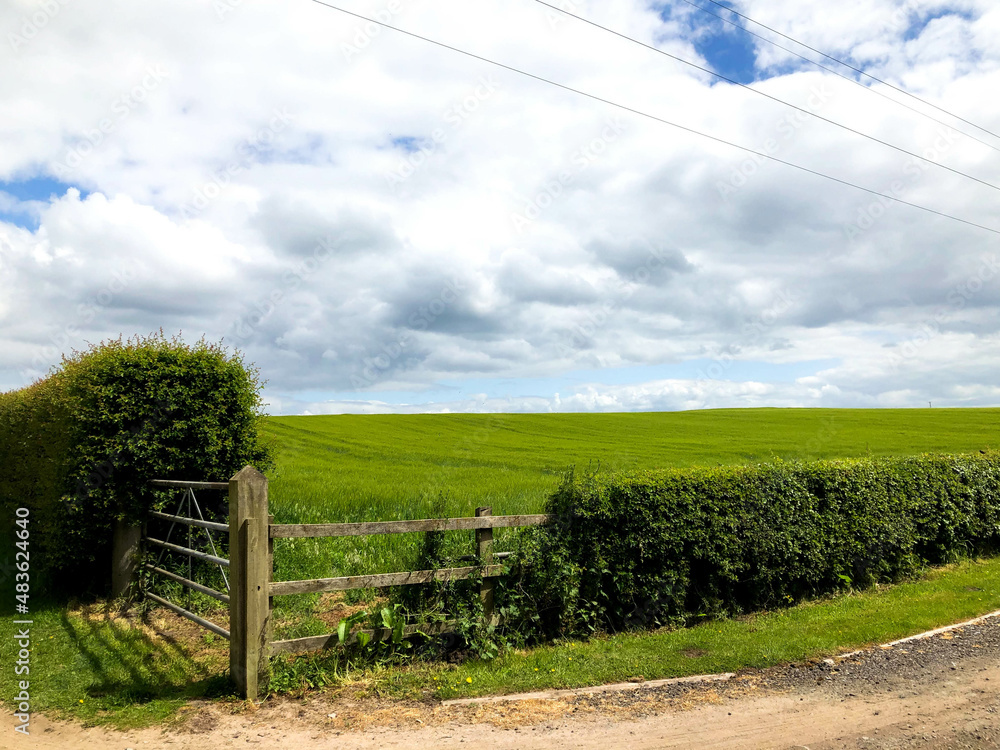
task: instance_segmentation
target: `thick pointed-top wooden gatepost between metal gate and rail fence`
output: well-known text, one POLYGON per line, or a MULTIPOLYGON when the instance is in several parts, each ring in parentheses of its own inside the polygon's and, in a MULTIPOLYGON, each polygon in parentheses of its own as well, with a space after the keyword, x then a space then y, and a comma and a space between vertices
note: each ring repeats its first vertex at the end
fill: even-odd
POLYGON ((229 673, 251 699, 268 678, 268 542, 267 477, 246 466, 229 480, 229 673))

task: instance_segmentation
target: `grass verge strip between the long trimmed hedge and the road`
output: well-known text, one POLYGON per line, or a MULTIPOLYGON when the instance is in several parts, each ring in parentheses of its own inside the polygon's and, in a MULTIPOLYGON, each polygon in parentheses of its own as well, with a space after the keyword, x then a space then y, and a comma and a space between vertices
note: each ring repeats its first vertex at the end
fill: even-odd
POLYGON ((929 571, 921 580, 682 630, 567 642, 379 676, 397 697, 473 697, 733 672, 832 656, 1000 609, 1000 558, 929 571))

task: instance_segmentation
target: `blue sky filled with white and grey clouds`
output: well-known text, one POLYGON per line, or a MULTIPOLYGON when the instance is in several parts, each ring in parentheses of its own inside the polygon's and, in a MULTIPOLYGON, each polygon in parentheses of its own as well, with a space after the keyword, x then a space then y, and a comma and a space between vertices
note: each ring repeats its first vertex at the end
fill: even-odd
POLYGON ((728 4, 884 83, 710 0, 331 2, 568 88, 310 0, 7 0, 0 390, 162 329, 272 414, 1000 405, 993 0, 728 4))

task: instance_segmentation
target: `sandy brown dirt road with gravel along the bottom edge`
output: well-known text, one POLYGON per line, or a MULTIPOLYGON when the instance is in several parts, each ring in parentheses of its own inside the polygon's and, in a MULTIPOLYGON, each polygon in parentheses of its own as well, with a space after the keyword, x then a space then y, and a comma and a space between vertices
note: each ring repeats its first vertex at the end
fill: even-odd
POLYGON ((5 715, 0 747, 40 750, 304 748, 1000 748, 1000 618, 837 664, 724 683, 470 706, 280 700, 234 715, 198 704, 168 731, 116 733, 5 715))

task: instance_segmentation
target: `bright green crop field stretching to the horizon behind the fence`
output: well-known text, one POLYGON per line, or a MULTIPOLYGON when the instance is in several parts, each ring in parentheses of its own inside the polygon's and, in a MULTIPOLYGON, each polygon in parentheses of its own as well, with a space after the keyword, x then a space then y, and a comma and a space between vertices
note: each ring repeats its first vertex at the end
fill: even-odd
MULTIPOLYGON (((924 452, 1000 443, 1000 409, 720 409, 631 414, 273 417, 277 523, 538 513, 567 470, 924 452)), ((497 549, 513 532, 498 532, 497 549)), ((445 553, 472 552, 469 532, 445 553)), ((421 534, 278 540, 277 580, 412 569, 421 534)))

